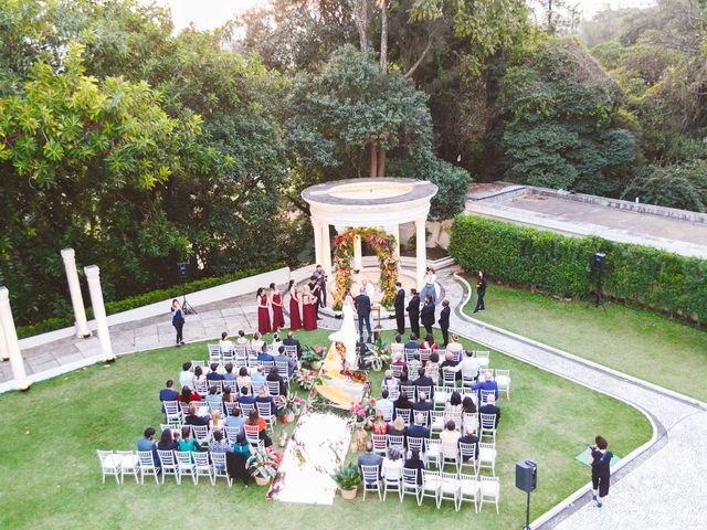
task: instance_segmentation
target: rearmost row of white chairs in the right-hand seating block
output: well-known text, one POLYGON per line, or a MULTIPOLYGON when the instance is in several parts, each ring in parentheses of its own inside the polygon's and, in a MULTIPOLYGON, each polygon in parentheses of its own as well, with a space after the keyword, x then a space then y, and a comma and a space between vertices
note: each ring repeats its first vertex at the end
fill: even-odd
POLYGON ((398 478, 380 478, 378 466, 361 466, 363 478, 363 500, 369 491, 378 494, 378 499, 386 500, 389 491, 397 492, 400 502, 405 495, 412 495, 421 506, 426 498, 432 498, 441 508, 444 500, 454 502, 460 511, 462 502, 474 505, 474 511, 483 509, 484 504, 493 504, 498 513, 500 486, 497 477, 477 477, 463 473, 430 471, 423 469, 422 484, 418 484, 418 469, 402 469, 398 478))

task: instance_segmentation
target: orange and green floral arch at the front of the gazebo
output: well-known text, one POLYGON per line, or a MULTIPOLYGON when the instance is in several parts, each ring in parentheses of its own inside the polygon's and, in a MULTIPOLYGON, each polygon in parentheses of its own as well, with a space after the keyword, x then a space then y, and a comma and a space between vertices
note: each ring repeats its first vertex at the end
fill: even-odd
POLYGON ((398 257, 395 256, 395 236, 381 229, 349 229, 334 239, 334 267, 336 269, 336 290, 334 309, 340 310, 346 293, 351 288, 351 261, 356 236, 366 241, 376 253, 380 265, 380 285, 383 293, 381 304, 391 306, 395 298, 398 282, 398 257))

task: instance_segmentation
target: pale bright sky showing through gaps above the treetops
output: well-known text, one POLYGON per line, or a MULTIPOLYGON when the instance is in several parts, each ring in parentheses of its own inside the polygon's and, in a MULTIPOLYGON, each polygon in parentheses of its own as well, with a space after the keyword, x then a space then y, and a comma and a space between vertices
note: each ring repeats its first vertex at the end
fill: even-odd
MULTIPOLYGON (((151 0, 143 0, 145 2, 151 0)), ((582 4, 585 19, 591 18, 606 4, 612 8, 633 8, 655 4, 655 0, 578 0, 582 4)), ((222 25, 234 15, 256 6, 265 6, 268 0, 157 0, 169 6, 177 30, 193 22, 200 30, 211 30, 222 25)))

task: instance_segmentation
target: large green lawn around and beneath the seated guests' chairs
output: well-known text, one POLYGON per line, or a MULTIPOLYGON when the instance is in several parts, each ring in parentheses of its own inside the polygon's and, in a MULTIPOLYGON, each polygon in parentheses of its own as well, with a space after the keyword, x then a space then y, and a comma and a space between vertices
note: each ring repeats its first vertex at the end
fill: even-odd
MULTIPOLYGON (((328 333, 298 336, 303 342, 327 343, 328 333)), ((525 513, 525 495, 514 486, 516 460, 538 462, 540 488, 532 498, 537 517, 589 480, 589 468, 574 456, 594 435, 606 436, 622 456, 651 436, 648 422, 634 409, 492 352, 492 367, 510 369, 513 378, 511 401, 502 398, 499 403, 500 516, 493 507, 479 515, 471 506, 458 513, 450 504, 437 510, 429 500, 419 508, 411 498, 401 505, 369 497, 363 506, 360 494, 354 501, 337 496, 333 507, 289 505, 265 500, 265 489, 255 485, 229 489, 223 483, 211 487, 189 480, 177 486, 171 477, 165 486, 138 486, 131 477, 123 486, 110 477, 102 485, 95 449, 134 449, 145 427, 161 423, 157 394, 165 380, 177 379, 184 360, 205 357, 203 343, 166 348, 34 384, 28 394, 1 395, 0 528, 179 528, 184 522, 242 527, 265 521, 268 528, 314 530, 329 529, 338 520, 347 521, 346 528, 368 530, 465 523, 506 530, 520 528, 525 513)), ((374 374, 376 395, 380 378, 374 374)))

